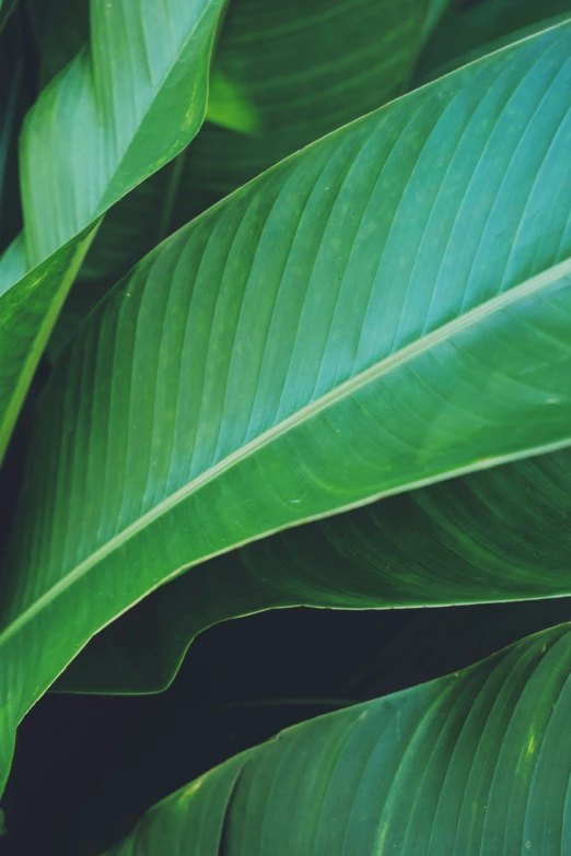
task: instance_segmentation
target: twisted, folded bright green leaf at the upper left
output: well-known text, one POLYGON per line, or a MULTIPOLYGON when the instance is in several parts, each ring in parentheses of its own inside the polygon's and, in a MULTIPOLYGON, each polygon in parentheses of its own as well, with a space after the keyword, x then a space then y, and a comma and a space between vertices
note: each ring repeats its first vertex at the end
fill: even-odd
POLYGON ((92 0, 91 49, 26 117, 24 232, 0 260, 0 455, 98 219, 202 121, 223 0, 167 5, 92 0))

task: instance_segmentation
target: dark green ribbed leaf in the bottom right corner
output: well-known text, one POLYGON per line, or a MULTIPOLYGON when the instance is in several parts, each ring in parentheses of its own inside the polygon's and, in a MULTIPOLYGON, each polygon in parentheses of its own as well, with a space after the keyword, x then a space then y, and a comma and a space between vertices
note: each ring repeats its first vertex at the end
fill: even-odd
POLYGON ((571 630, 289 728, 173 794, 109 856, 561 856, 571 630))

